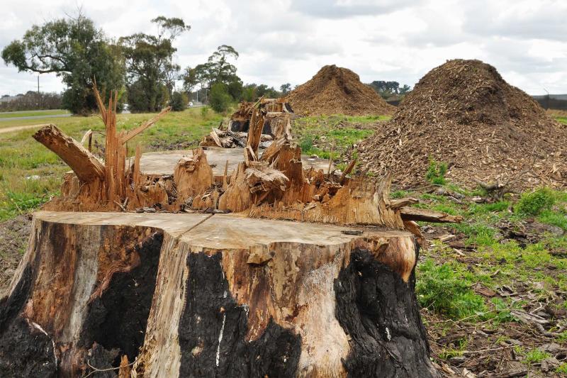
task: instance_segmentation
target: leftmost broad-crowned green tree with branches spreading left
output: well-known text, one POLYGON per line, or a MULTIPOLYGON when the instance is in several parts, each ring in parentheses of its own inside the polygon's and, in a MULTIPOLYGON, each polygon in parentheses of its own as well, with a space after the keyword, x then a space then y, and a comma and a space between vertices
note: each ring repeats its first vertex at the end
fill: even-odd
POLYGON ((80 12, 74 18, 32 26, 21 40, 14 40, 2 50, 2 59, 18 71, 55 72, 67 87, 62 105, 73 113, 96 109, 91 90, 94 77, 106 95, 124 85, 120 49, 80 12))

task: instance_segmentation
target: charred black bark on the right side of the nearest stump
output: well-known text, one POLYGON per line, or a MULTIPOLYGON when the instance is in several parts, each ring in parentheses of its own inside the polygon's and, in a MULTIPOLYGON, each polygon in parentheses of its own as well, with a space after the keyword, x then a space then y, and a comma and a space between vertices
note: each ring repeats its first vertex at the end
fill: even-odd
POLYGON ((335 293, 337 319, 351 338, 344 361, 349 377, 439 377, 429 360, 413 273, 406 283, 371 252, 354 250, 335 293))

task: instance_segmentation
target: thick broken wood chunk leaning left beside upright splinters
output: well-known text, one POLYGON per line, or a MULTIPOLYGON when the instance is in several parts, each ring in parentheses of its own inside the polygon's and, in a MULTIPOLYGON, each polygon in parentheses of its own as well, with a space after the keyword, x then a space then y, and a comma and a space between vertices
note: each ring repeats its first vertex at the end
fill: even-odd
POLYGON ((61 157, 82 182, 90 183, 95 179, 103 179, 105 175, 103 163, 76 140, 65 135, 57 126, 44 126, 33 135, 33 138, 61 157))

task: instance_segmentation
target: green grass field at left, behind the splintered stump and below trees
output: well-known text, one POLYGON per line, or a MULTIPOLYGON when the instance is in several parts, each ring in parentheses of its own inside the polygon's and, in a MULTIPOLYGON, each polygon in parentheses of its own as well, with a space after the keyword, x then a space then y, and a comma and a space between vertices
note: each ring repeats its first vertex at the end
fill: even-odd
MULTIPOLYGON (((206 109, 206 108, 205 108, 206 109)), ((129 130, 152 118, 152 114, 120 114, 118 130, 129 130)), ((223 116, 213 111, 188 109, 172 112, 128 143, 133 154, 140 143, 142 151, 190 148, 198 144, 223 116)), ((34 119, 33 123, 54 123, 65 133, 81 140, 86 130, 94 131, 94 140, 103 145, 103 123, 97 116, 34 119)), ((30 120, 5 121, 0 127, 29 125, 30 120), (23 123, 22 123, 23 122, 23 123)), ((0 134, 0 221, 34 209, 56 194, 62 174, 69 167, 54 153, 31 138, 35 129, 0 134)))

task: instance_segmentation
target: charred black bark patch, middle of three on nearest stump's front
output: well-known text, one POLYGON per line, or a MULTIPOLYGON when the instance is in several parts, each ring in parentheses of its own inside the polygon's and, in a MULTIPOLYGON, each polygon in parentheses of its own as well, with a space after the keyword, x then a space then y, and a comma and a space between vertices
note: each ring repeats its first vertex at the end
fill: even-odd
POLYGON ((245 340, 248 308, 230 294, 221 256, 189 253, 179 377, 293 377, 301 337, 270 321, 260 338, 245 340))

